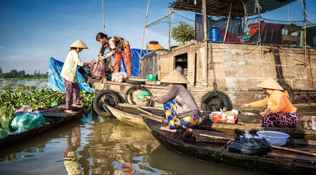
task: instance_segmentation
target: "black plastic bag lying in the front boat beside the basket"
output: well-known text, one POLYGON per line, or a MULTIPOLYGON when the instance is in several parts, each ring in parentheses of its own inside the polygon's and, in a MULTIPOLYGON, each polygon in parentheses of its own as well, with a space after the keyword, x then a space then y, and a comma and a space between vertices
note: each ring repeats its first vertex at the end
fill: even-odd
POLYGON ((259 138, 254 134, 238 134, 234 141, 228 146, 228 152, 244 155, 266 155, 271 146, 264 138, 259 138), (250 136, 250 137, 249 137, 250 136))

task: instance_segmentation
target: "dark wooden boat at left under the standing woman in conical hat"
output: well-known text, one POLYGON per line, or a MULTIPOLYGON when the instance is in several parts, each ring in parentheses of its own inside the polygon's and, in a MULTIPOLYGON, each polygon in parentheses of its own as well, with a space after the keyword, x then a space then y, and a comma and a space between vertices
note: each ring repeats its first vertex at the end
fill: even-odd
MULTIPOLYGON (((83 99, 81 99, 81 104, 84 104, 83 99)), ((65 106, 64 103, 59 104, 59 106, 57 107, 48 107, 46 109, 39 110, 46 119, 46 122, 49 122, 49 124, 15 135, 9 135, 9 137, 7 138, 0 139, 0 149, 12 144, 16 144, 26 138, 37 137, 40 134, 45 133, 46 131, 50 131, 75 119, 76 117, 82 116, 82 113, 84 112, 84 108, 79 108, 74 109, 74 111, 76 111, 75 114, 66 113, 64 112, 64 110, 60 110, 60 108, 62 108, 63 106, 65 106)))

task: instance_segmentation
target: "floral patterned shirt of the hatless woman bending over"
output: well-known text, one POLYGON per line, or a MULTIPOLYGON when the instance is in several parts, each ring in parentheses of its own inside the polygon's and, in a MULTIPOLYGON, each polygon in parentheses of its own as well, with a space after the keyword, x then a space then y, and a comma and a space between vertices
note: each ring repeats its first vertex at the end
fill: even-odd
POLYGON ((123 55, 128 45, 129 42, 122 37, 107 37, 104 47, 109 49, 110 53, 108 53, 105 57, 111 57, 116 51, 123 55))

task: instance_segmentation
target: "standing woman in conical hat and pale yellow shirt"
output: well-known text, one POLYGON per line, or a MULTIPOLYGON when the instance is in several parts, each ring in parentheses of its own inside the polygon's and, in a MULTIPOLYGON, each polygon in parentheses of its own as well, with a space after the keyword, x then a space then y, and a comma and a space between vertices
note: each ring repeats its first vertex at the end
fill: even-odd
MULTIPOLYGON (((82 107, 80 102, 80 88, 76 79, 77 66, 91 65, 95 62, 83 63, 79 58, 79 52, 84 48, 88 48, 80 39, 72 43, 70 46, 70 52, 68 53, 63 69, 60 76, 64 78, 64 84, 66 88, 66 107, 82 107), (73 99, 73 104, 71 100, 73 99)), ((66 110, 69 113, 75 113, 73 110, 66 110)))

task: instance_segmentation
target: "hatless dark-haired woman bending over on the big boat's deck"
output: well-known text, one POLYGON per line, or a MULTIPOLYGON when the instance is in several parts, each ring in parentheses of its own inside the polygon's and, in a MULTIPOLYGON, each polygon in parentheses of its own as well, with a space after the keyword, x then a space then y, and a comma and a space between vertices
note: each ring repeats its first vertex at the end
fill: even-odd
POLYGON ((122 37, 107 37, 104 33, 98 33, 96 40, 102 44, 102 47, 109 49, 110 53, 103 56, 104 49, 101 48, 99 60, 104 60, 114 56, 114 72, 119 72, 120 62, 123 57, 126 66, 127 75, 131 77, 131 47, 129 42, 122 37))

